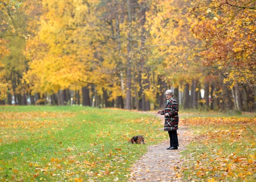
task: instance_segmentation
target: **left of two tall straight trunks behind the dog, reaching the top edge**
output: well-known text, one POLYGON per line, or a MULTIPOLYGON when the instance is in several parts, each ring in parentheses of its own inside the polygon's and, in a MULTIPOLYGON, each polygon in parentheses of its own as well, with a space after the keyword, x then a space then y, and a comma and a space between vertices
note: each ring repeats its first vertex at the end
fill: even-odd
POLYGON ((131 5, 132 0, 127 0, 128 9, 128 37, 127 37, 127 68, 126 68, 126 109, 131 110, 131 5))

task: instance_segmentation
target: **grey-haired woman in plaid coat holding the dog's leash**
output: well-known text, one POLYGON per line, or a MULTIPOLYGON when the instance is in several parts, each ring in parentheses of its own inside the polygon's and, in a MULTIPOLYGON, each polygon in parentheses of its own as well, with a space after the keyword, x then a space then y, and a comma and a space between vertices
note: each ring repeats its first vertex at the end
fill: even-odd
POLYGON ((168 131, 170 137, 170 147, 166 148, 167 150, 177 150, 179 143, 178 143, 178 102, 173 98, 173 91, 166 90, 166 104, 163 111, 157 111, 158 114, 164 114, 164 131, 168 131))

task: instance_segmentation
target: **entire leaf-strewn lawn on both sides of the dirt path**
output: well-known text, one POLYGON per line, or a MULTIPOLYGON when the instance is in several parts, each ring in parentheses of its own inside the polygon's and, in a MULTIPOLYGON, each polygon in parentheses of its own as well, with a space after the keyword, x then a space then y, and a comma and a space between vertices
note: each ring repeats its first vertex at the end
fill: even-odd
MULTIPOLYGON (((0 107, 0 181, 126 181, 131 164, 146 152, 147 145, 168 139, 156 118, 145 134, 147 145, 128 143, 132 136, 145 132, 154 113, 0 107)), ((193 138, 182 151, 184 180, 256 181, 254 114, 179 114, 193 138)))

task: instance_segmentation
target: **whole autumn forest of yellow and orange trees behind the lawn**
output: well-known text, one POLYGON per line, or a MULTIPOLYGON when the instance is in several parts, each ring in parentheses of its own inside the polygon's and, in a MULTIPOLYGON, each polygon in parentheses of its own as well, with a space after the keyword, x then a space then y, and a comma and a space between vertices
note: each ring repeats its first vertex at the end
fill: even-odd
POLYGON ((0 0, 0 104, 255 112, 255 23, 256 0, 0 0))

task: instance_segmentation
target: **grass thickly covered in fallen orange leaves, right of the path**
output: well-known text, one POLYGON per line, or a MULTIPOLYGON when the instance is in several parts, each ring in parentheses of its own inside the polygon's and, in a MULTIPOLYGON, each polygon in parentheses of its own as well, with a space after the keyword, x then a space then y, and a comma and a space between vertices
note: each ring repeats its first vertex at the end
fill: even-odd
POLYGON ((256 181, 256 117, 189 117, 194 134, 182 151, 188 181, 256 181))

